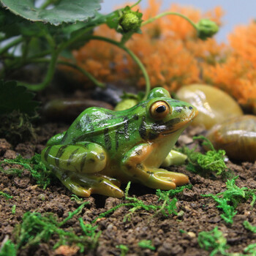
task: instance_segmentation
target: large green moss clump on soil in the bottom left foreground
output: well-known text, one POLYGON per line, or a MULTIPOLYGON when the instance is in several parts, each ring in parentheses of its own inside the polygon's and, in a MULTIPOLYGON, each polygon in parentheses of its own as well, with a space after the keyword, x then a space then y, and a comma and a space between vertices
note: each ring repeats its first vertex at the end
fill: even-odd
POLYGON ((76 244, 80 247, 80 252, 84 252, 86 247, 94 248, 100 233, 95 233, 97 227, 85 225, 83 219, 79 219, 83 236, 77 236, 72 230, 66 231, 61 228, 69 219, 79 214, 83 207, 89 202, 80 205, 75 211, 69 213, 69 217, 62 222, 58 222, 53 214, 39 214, 37 212, 26 212, 23 215, 23 222, 16 227, 17 248, 35 246, 42 242, 47 242, 52 236, 58 236, 59 241, 53 246, 58 248, 61 244, 76 244))

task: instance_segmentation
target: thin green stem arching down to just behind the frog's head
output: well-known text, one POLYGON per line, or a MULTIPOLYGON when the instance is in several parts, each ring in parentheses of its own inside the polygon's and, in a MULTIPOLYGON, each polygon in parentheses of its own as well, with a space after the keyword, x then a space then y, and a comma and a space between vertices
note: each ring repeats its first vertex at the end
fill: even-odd
POLYGON ((101 40, 101 41, 105 41, 105 42, 109 42, 110 44, 116 45, 118 46, 118 48, 121 48, 123 50, 125 50, 129 56, 132 57, 132 59, 138 64, 138 66, 140 67, 141 71, 143 72, 143 76, 145 78, 146 81, 146 94, 145 97, 143 99, 146 99, 146 97, 148 96, 148 93, 150 91, 150 80, 148 77, 148 72, 146 71, 146 68, 144 67, 143 63, 140 61, 140 59, 135 55, 135 53, 132 52, 132 50, 129 50, 129 48, 127 48, 125 45, 121 44, 121 42, 117 42, 113 39, 107 38, 107 37, 99 37, 99 36, 90 36, 89 39, 95 39, 95 40, 101 40))

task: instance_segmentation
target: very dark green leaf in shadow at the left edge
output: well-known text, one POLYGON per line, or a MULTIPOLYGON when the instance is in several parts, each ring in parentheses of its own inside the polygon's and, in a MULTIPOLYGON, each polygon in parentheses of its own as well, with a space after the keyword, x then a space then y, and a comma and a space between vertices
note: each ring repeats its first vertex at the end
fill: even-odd
POLYGON ((17 86, 15 81, 0 80, 0 115, 13 110, 33 114, 39 105, 33 98, 34 94, 27 91, 25 86, 17 86))

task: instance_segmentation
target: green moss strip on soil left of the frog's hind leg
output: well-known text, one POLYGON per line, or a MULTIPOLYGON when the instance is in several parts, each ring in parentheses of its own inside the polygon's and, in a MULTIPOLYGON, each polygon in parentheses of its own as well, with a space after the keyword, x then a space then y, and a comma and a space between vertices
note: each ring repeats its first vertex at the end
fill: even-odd
POLYGON ((4 162, 11 165, 22 165, 24 168, 28 169, 31 172, 31 176, 43 189, 48 187, 53 180, 54 176, 42 163, 40 154, 35 154, 31 159, 26 159, 21 156, 18 156, 16 159, 4 159, 0 164, 4 162))

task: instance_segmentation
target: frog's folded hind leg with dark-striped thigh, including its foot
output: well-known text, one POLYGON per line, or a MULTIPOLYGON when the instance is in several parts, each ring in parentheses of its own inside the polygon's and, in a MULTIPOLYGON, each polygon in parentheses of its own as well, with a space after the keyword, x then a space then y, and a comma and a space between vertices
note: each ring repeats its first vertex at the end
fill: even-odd
POLYGON ((107 157, 102 146, 91 142, 53 145, 42 151, 42 162, 76 195, 89 197, 97 193, 122 197, 120 182, 99 174, 106 166, 107 157))

